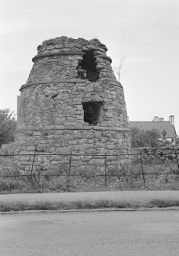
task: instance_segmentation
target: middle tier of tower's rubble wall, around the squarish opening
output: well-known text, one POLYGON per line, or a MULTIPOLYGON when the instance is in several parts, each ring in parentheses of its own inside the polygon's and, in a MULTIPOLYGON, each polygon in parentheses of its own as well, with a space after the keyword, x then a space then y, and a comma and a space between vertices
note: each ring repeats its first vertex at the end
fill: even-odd
MULTIPOLYGON (((101 121, 97 126, 126 128, 123 89, 118 83, 83 82, 79 79, 61 83, 27 86, 21 91, 18 127, 32 125, 89 126, 83 121, 82 102, 103 102, 101 121)), ((92 127, 91 127, 92 128, 92 127)))

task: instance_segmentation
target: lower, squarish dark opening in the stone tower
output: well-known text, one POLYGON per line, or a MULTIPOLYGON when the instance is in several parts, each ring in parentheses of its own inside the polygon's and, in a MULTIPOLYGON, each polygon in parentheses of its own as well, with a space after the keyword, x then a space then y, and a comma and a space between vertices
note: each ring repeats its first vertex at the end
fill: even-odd
POLYGON ((84 122, 91 125, 97 125, 101 119, 101 106, 102 102, 83 102, 84 122))

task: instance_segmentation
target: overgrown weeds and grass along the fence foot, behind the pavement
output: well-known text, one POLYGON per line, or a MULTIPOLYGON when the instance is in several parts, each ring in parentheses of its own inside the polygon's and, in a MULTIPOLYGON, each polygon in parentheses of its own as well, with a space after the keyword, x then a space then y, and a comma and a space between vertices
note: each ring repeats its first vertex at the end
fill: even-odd
POLYGON ((105 190, 179 190, 179 180, 176 175, 142 176, 132 175, 121 180, 120 177, 72 177, 70 182, 66 177, 36 177, 32 182, 27 177, 0 177, 0 193, 50 193, 50 192, 82 192, 105 190))

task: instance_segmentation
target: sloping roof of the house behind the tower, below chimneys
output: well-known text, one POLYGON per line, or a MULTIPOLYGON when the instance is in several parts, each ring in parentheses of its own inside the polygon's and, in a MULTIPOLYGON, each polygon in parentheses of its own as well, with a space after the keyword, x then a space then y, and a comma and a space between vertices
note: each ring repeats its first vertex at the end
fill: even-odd
POLYGON ((141 130, 152 130, 156 129, 160 134, 162 131, 166 131, 166 138, 176 138, 177 134, 174 125, 171 125, 170 121, 160 121, 160 122, 129 122, 129 128, 137 127, 141 130))

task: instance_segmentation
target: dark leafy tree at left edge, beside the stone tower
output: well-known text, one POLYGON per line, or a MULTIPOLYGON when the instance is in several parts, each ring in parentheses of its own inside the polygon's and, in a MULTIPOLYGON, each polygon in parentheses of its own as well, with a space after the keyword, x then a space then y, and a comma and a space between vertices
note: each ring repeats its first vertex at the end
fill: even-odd
POLYGON ((10 109, 0 109, 0 147, 14 141, 16 125, 14 112, 10 109))

